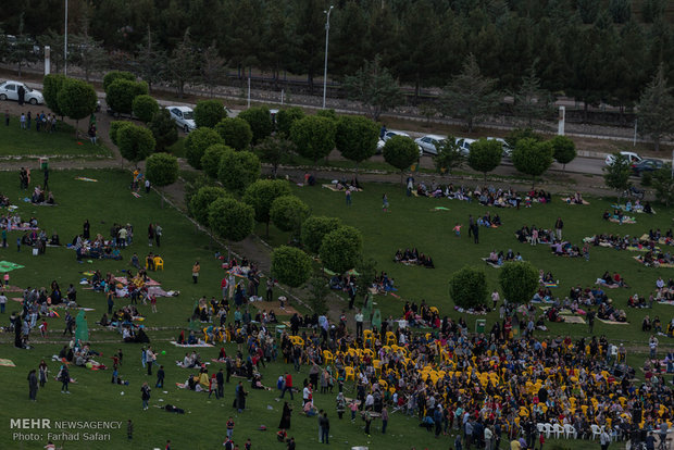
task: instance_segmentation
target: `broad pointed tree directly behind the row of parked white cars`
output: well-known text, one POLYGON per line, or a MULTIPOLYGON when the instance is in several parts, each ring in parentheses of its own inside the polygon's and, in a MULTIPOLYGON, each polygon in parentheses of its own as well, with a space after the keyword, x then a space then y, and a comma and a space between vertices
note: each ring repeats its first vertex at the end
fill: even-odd
POLYGON ((496 79, 487 78, 480 73, 477 60, 471 53, 463 64, 463 71, 442 90, 442 114, 463 118, 469 133, 473 133, 473 124, 494 112, 499 103, 500 95, 495 90, 496 83, 496 79))

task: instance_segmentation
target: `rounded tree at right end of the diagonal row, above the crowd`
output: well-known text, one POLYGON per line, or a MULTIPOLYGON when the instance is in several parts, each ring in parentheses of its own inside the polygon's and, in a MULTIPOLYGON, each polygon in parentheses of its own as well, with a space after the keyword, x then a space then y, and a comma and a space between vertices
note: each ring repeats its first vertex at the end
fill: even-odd
POLYGON ((325 235, 319 254, 325 267, 344 274, 358 264, 362 250, 361 232, 345 225, 325 235))

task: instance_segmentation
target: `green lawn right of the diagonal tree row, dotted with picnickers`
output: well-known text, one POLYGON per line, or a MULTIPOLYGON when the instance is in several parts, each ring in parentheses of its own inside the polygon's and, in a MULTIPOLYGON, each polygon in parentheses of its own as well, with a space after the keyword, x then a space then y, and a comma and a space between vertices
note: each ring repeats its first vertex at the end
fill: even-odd
MULTIPOLYGON (((581 243, 584 237, 600 233, 641 236, 650 228, 661 228, 664 234, 672 226, 672 215, 671 211, 659 205, 656 205, 657 215, 637 214, 637 224, 621 226, 604 222, 601 217, 603 211, 610 209, 615 199, 590 198, 590 205, 578 207, 569 205, 557 196, 550 204, 535 203, 532 208, 522 208, 517 211, 486 208, 458 200, 405 197, 400 185, 372 184, 367 185, 363 192, 355 192, 352 196, 353 204, 347 208, 342 192, 323 189, 320 184, 313 188, 294 189, 295 193, 311 207, 314 215, 337 216, 345 224, 362 232, 365 257, 375 259, 378 271, 391 276, 399 289, 396 293, 400 299, 391 296, 375 298, 383 315, 386 316, 389 314, 394 317, 399 316, 404 300, 419 303, 424 299, 427 303, 437 305, 441 315, 458 317, 460 314, 453 311, 453 302, 449 299, 449 277, 466 264, 485 267, 489 289, 497 288, 499 270, 491 268, 480 261, 480 258, 488 257, 495 249, 503 252, 508 249, 521 252, 524 260, 531 261, 537 268, 551 271, 560 282, 560 287, 553 289, 553 295, 562 299, 572 286, 579 284, 583 287, 591 287, 597 277, 602 276, 606 271, 617 272, 625 277, 629 289, 609 289, 608 293, 620 309, 626 309, 631 325, 606 325, 597 321, 595 333, 598 335, 606 334, 612 339, 644 343, 648 338, 640 328, 644 315, 649 314, 651 317, 659 315, 666 322, 674 313, 674 307, 670 305, 657 305, 653 310, 635 310, 626 307, 627 298, 635 292, 648 297, 654 289, 658 276, 662 276, 665 280, 674 276, 671 268, 645 267, 633 260, 635 252, 601 247, 590 249, 589 262, 578 258, 556 257, 551 254, 548 246, 523 245, 514 235, 523 225, 552 228, 558 216, 564 221, 564 238, 573 243, 581 243), (382 211, 382 196, 385 192, 390 202, 388 213, 382 211), (449 211, 435 211, 436 207, 446 207, 449 211), (498 213, 503 225, 496 229, 480 227, 479 245, 475 245, 473 239, 467 237, 469 214, 477 217, 487 212, 492 215, 498 213), (460 238, 452 232, 457 223, 464 225, 460 238), (420 252, 429 254, 436 268, 394 263, 397 249, 413 247, 420 252)), ((273 242, 278 243, 282 238, 273 242)), ((475 318, 482 317, 466 316, 471 327, 475 318)), ((497 312, 487 315, 487 329, 496 318, 498 318, 497 312)), ((587 326, 552 324, 550 329, 552 334, 577 335, 586 333, 587 326)))

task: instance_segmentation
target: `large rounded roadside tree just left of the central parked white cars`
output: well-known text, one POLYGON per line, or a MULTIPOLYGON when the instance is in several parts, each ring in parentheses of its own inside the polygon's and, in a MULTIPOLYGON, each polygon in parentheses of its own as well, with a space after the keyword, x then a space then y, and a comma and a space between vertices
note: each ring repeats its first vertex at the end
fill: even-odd
POLYGON ((379 126, 360 115, 342 115, 337 121, 335 146, 344 158, 358 164, 377 151, 379 126))

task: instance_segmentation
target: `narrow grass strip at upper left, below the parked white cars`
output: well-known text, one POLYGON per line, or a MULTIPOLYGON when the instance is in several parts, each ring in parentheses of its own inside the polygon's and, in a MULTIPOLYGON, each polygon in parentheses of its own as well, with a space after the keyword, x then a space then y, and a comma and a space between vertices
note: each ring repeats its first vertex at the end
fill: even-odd
POLYGON ((108 158, 111 152, 100 139, 93 146, 84 136, 87 121, 80 121, 80 138, 75 139, 75 129, 59 121, 55 133, 45 133, 35 129, 35 121, 30 129, 18 127, 18 116, 12 116, 10 126, 0 126, 0 158, 7 157, 49 157, 49 158, 108 158))

